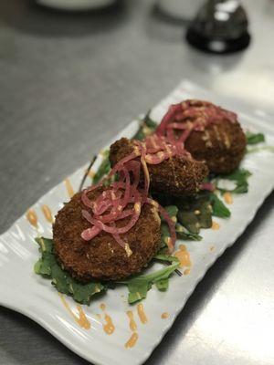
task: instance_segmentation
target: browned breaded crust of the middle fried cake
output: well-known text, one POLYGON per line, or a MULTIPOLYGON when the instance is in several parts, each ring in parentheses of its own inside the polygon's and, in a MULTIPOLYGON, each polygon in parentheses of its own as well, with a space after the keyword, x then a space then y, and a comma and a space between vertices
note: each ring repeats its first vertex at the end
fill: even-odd
MULTIPOLYGON (((111 145, 110 160, 114 166, 133 151, 132 141, 121 138, 111 145)), ((151 189, 154 193, 190 195, 197 193, 208 174, 205 162, 175 156, 159 164, 148 164, 151 189)))

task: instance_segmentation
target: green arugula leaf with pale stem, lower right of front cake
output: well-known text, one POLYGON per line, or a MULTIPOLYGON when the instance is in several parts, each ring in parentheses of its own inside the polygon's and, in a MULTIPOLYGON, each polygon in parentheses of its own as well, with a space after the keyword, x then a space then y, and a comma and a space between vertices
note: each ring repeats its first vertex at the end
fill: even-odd
MULTIPOLYGON (((176 259, 176 257, 174 257, 174 259, 176 259)), ((132 279, 122 281, 121 284, 126 284, 129 289, 128 302, 133 304, 145 298, 153 284, 155 284, 159 290, 167 290, 168 279, 179 266, 180 262, 176 259, 172 265, 163 267, 152 274, 135 276, 132 279)))

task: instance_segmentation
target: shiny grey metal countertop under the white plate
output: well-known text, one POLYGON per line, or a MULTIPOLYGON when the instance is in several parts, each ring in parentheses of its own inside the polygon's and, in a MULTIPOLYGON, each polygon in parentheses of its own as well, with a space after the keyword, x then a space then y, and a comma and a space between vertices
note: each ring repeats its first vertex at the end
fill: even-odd
MULTIPOLYGON (((253 42, 229 57, 188 47, 152 4, 121 2, 79 21, 1 2, 1 232, 181 78, 274 118, 272 0, 243 2, 253 42)), ((273 202, 210 269, 147 364, 274 364, 273 202)), ((1 308, 0 323, 1 364, 87 363, 19 314, 1 308)))

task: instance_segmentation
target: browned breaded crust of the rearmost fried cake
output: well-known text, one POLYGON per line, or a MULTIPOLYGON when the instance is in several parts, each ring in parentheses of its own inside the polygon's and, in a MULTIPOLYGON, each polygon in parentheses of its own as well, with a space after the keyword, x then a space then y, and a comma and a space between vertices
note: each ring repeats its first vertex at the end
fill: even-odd
POLYGON ((205 131, 193 131, 185 149, 196 160, 205 161, 210 172, 229 173, 237 169, 246 151, 246 136, 236 121, 222 120, 205 131))

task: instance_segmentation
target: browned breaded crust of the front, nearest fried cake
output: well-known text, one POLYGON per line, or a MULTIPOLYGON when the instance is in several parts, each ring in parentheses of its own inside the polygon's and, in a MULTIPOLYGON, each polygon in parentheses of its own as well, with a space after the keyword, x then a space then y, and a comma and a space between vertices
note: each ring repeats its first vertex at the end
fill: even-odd
MULTIPOLYGON (((96 198, 101 189, 90 192, 89 198, 96 198)), ((148 204, 142 206, 142 213, 137 223, 121 238, 128 242, 132 255, 114 238, 101 232, 90 242, 81 238, 81 233, 90 227, 81 214, 86 209, 76 193, 69 203, 58 212, 53 224, 54 252, 58 262, 72 276, 82 282, 92 279, 119 280, 142 270, 158 251, 161 233, 160 218, 155 208, 148 204)), ((130 218, 117 221, 117 226, 124 226, 130 218)))

